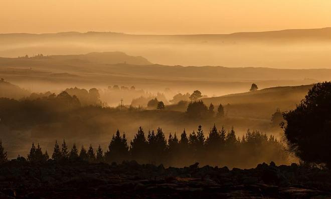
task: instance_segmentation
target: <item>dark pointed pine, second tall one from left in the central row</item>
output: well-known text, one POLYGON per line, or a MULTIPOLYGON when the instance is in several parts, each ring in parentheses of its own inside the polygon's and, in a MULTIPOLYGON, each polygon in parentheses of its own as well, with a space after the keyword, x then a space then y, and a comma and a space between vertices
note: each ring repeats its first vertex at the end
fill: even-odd
POLYGON ((133 140, 131 141, 130 153, 132 159, 138 162, 146 162, 146 152, 148 150, 148 143, 142 130, 141 126, 138 129, 138 132, 134 135, 133 140))

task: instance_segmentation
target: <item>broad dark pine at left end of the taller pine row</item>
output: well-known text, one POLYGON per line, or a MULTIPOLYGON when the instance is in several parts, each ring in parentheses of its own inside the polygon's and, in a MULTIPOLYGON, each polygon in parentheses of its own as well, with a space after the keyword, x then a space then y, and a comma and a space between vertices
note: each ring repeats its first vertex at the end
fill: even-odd
POLYGON ((105 153, 105 158, 107 162, 121 162, 128 159, 128 145, 125 138, 125 133, 123 136, 120 136, 119 130, 117 129, 116 135, 113 135, 109 146, 108 151, 105 153))

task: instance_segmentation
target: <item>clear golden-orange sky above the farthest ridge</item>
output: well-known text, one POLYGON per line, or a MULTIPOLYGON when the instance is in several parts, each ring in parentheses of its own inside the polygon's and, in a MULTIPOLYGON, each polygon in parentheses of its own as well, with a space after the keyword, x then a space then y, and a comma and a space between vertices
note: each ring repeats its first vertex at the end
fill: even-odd
POLYGON ((0 32, 192 34, 331 26, 331 0, 0 0, 0 32))

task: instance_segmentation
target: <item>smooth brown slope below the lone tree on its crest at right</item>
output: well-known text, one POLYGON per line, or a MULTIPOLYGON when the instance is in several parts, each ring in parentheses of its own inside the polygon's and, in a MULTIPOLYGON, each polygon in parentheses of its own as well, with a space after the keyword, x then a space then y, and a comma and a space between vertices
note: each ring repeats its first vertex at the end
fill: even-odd
POLYGON ((310 87, 312 85, 279 86, 202 100, 206 104, 222 103, 227 116, 270 119, 277 108, 281 111, 295 108, 310 87))

